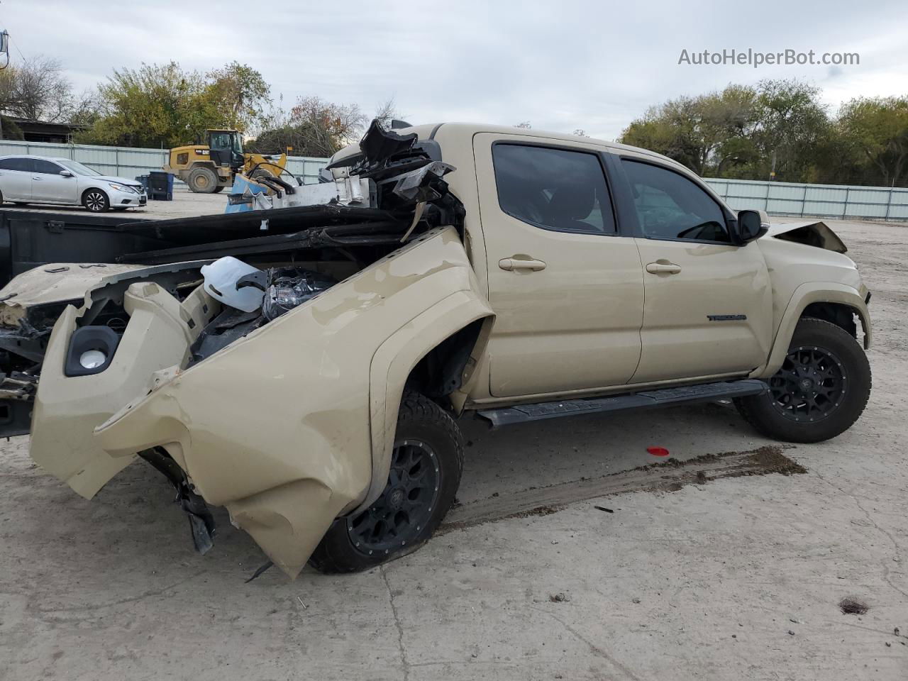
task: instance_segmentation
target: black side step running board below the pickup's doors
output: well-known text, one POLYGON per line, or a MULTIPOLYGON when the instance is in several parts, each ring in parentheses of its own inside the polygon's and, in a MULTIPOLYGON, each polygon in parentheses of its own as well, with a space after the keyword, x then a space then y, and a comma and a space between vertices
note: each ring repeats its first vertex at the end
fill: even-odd
POLYGON ((645 410, 657 407, 674 407, 678 404, 692 404, 694 402, 727 400, 748 395, 759 395, 765 390, 767 390, 767 386, 762 380, 728 380, 721 383, 704 383, 682 388, 646 390, 629 395, 521 404, 517 407, 505 407, 503 409, 478 410, 476 413, 483 419, 488 419, 492 424, 492 428, 498 428, 500 426, 509 426, 512 423, 558 419, 558 417, 562 416, 592 414, 599 411, 645 410))

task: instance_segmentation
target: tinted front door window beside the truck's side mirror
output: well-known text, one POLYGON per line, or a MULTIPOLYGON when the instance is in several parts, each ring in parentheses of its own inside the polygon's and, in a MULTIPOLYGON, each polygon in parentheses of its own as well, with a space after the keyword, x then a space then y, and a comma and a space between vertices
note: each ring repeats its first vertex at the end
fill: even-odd
POLYGON ((649 163, 627 159, 622 163, 647 237, 731 242, 725 214, 696 183, 649 163))

